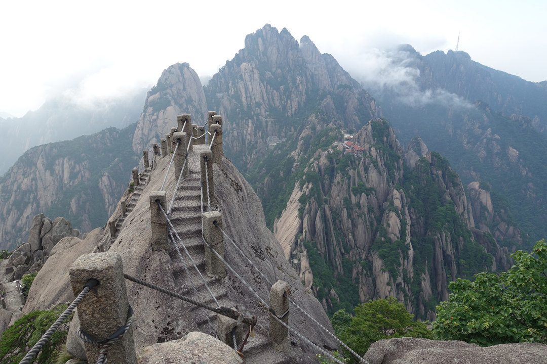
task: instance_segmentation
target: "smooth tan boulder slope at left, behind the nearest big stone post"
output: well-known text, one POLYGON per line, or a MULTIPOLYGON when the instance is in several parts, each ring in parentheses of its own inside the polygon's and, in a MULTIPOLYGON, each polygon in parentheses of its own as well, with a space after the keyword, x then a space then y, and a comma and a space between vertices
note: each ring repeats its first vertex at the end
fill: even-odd
POLYGON ((50 309, 74 300, 68 279, 68 269, 82 254, 91 253, 103 234, 101 228, 91 231, 85 238, 68 236, 55 245, 44 266, 34 278, 22 313, 37 309, 50 309))

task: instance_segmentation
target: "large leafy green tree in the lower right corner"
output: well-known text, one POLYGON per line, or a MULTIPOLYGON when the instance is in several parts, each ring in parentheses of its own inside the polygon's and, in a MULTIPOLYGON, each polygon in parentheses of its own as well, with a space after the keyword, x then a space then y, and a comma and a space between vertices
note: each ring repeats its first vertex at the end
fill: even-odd
POLYGON ((536 256, 518 250, 515 265, 500 275, 479 273, 475 281, 451 282, 449 300, 437 307, 434 333, 444 340, 483 346, 547 343, 547 243, 536 256))

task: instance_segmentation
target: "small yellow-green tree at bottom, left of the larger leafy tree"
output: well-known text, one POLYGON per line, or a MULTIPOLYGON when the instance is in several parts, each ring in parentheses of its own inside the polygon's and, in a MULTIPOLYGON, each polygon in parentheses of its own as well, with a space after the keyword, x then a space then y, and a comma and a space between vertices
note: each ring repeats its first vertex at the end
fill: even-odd
MULTIPOLYGON (((374 300, 360 304, 351 317, 345 309, 334 313, 330 322, 336 336, 348 347, 363 356, 370 344, 381 339, 394 337, 433 338, 425 324, 412 320, 413 316, 405 306, 394 297, 387 300, 374 300)), ((355 358, 344 350, 348 362, 355 363, 355 358)))

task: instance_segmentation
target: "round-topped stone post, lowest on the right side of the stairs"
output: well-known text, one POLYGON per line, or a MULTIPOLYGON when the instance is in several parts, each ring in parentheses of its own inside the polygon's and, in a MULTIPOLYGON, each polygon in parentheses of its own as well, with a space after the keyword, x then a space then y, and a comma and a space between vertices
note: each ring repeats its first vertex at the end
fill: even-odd
MULTIPOLYGON (((270 290, 270 308, 274 310, 277 317, 287 325, 289 324, 289 285, 287 282, 277 281, 270 290)), ((274 349, 290 352, 290 341, 287 327, 280 324, 270 312, 270 338, 272 339, 274 349)))

